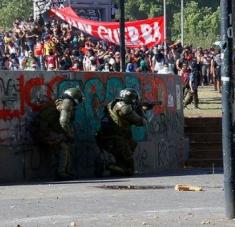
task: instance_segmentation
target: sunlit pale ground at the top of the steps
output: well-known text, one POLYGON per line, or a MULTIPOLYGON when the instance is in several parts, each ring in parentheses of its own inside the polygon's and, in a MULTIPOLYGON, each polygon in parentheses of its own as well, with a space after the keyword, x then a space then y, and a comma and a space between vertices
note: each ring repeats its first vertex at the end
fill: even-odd
POLYGON ((199 108, 194 109, 193 105, 188 105, 184 109, 185 117, 221 117, 221 94, 214 90, 213 86, 199 87, 199 108))

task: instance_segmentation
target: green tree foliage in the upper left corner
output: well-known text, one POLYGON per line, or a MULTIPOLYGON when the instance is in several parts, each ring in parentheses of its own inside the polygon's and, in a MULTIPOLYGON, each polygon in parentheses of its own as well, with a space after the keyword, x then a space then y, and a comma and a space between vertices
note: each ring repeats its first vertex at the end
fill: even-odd
POLYGON ((2 0, 0 27, 11 28, 17 18, 27 19, 33 13, 32 0, 2 0))

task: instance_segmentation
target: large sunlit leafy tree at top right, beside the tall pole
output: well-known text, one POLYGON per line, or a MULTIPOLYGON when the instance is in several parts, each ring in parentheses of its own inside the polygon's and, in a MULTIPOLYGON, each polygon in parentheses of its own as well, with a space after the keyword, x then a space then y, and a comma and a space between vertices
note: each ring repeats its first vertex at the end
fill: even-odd
MULTIPOLYGON (((210 47, 219 35, 220 9, 200 8, 198 3, 191 1, 184 9, 184 43, 210 47)), ((174 15, 173 39, 180 38, 180 13, 174 15)))

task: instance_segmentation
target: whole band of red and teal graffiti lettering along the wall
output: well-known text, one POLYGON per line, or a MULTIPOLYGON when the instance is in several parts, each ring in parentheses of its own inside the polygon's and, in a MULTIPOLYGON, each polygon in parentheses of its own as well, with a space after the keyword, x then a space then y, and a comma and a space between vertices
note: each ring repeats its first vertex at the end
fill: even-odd
MULTIPOLYGON (((166 110, 176 112, 176 101, 170 98, 169 102, 169 97, 175 97, 172 78, 169 76, 167 80, 163 80, 154 76, 127 75, 123 77, 122 74, 100 76, 87 73, 71 80, 64 75, 54 75, 50 78, 42 75, 27 78, 21 74, 15 78, 7 78, 0 75, 0 119, 23 118, 27 111, 39 111, 43 108, 44 102, 55 99, 65 89, 79 86, 86 96, 86 102, 80 105, 76 111, 75 127, 80 140, 89 140, 89 137, 95 134, 99 128, 103 106, 110 102, 124 87, 135 88, 147 101, 161 101, 160 106, 156 106, 148 112, 148 118, 160 115, 160 121, 165 122, 166 120, 162 119, 165 115, 162 116, 162 114, 166 110)), ((153 127, 150 130, 158 130, 156 129, 158 124, 159 122, 153 121, 153 127)), ((164 131, 166 132, 166 130, 164 131)), ((145 139, 145 132, 146 129, 143 127, 133 129, 134 137, 138 141, 145 139)))

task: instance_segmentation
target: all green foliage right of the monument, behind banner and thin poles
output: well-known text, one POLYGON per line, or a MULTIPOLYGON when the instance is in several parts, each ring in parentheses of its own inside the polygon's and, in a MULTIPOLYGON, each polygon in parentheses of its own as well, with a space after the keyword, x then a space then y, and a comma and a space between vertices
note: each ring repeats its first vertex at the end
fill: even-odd
MULTIPOLYGON (((113 0, 117 5, 119 0, 113 0)), ((209 47, 219 35, 220 0, 184 0, 185 43, 209 47)), ((168 40, 180 38, 180 0, 166 0, 168 40)), ((163 15, 163 0, 126 0, 126 20, 163 15)))

